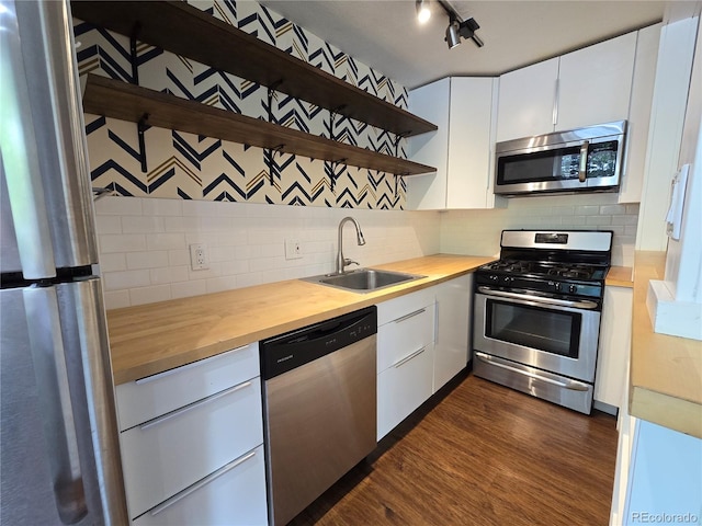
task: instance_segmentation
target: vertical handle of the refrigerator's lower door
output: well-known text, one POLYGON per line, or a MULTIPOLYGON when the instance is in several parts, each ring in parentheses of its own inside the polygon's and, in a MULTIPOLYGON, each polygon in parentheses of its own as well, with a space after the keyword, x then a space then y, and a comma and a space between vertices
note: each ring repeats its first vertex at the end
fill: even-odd
POLYGON ((23 291, 54 496, 64 524, 88 513, 55 287, 23 291))

